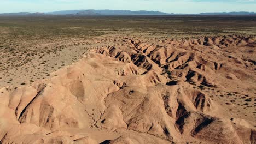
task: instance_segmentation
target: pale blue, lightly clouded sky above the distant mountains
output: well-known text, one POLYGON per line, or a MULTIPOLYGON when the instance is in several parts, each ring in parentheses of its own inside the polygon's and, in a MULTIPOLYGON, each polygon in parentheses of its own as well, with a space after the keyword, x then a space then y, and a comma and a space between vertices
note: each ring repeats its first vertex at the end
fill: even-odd
POLYGON ((79 9, 154 10, 187 14, 256 12, 256 0, 0 0, 0 13, 79 9))

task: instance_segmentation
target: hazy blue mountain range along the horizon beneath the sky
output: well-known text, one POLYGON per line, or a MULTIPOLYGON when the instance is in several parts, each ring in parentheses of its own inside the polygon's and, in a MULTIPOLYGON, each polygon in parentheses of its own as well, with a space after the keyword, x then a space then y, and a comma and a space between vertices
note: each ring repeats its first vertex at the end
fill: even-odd
POLYGON ((131 10, 63 10, 63 11, 54 11, 49 13, 28 13, 28 12, 21 12, 21 13, 4 13, 0 14, 0 16, 19 16, 19 15, 256 15, 254 12, 224 12, 224 13, 200 13, 200 14, 168 14, 163 13, 160 11, 146 11, 146 10, 139 10, 139 11, 131 11, 131 10))

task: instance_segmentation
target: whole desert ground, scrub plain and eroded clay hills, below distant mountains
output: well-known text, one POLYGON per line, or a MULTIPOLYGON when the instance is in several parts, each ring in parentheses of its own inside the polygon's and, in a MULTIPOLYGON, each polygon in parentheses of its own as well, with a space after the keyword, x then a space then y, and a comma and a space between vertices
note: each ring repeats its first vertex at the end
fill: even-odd
POLYGON ((1 16, 0 143, 256 143, 256 16, 1 16))

